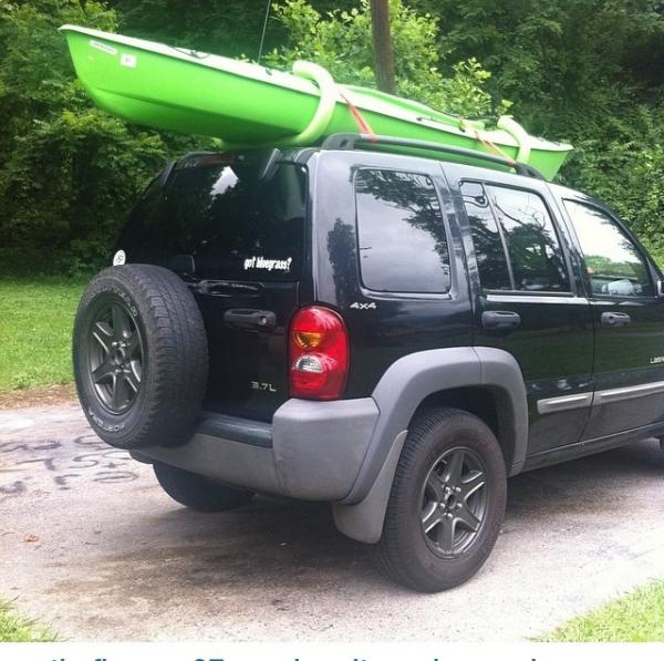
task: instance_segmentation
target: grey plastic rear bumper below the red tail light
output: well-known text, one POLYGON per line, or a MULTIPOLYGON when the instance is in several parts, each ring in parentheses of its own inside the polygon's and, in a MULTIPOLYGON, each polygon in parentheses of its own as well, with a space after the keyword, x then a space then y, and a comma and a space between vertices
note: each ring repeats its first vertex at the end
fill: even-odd
POLYGON ((360 474, 378 413, 371 397, 289 400, 271 425, 208 414, 186 444, 132 455, 257 492, 342 500, 360 474))

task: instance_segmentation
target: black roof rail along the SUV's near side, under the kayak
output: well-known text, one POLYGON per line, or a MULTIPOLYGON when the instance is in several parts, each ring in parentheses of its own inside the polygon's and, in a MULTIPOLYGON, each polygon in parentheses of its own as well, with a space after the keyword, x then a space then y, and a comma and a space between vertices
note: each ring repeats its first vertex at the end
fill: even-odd
POLYGON ((484 152, 476 152, 474 149, 466 149, 464 147, 454 147, 452 145, 443 145, 440 143, 430 143, 423 140, 394 137, 391 135, 369 135, 367 133, 333 133, 325 138, 321 146, 323 149, 354 149, 360 143, 391 145, 395 147, 411 147, 428 152, 442 152, 445 154, 452 154, 454 156, 476 158, 478 161, 486 161, 488 163, 496 163, 498 165, 511 167, 519 175, 546 180, 543 175, 538 169, 531 165, 527 165, 526 163, 519 163, 518 161, 511 161, 510 158, 502 158, 501 156, 494 156, 492 154, 485 154, 484 152))

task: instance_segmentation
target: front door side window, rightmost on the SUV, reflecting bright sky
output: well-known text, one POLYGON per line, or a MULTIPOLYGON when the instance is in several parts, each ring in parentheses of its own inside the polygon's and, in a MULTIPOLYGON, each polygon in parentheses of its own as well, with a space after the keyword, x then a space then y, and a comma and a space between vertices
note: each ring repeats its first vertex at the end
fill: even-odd
POLYGON ((564 200, 581 244, 593 295, 654 296, 647 266, 633 241, 601 209, 564 200))

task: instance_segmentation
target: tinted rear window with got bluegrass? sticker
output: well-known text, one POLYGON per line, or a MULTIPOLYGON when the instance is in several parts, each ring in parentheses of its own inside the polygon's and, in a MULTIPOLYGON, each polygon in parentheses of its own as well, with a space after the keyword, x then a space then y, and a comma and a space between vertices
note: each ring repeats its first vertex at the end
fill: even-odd
POLYGON ((280 164, 258 180, 259 166, 200 156, 155 180, 117 247, 133 262, 159 264, 217 280, 298 280, 304 255, 307 175, 280 164))

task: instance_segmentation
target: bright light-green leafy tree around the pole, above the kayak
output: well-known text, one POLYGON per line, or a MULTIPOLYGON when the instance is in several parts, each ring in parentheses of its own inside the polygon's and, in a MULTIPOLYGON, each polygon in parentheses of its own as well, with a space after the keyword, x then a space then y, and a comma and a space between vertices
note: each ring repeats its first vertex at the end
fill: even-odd
MULTIPOLYGON (((307 0, 273 7, 289 41, 266 58, 270 65, 288 69, 295 60, 311 60, 340 82, 375 86, 369 0, 324 16, 307 0)), ((449 76, 440 74, 437 19, 401 0, 391 0, 390 11, 397 94, 447 112, 490 113, 491 96, 484 87, 491 74, 475 58, 455 64, 449 76)))

